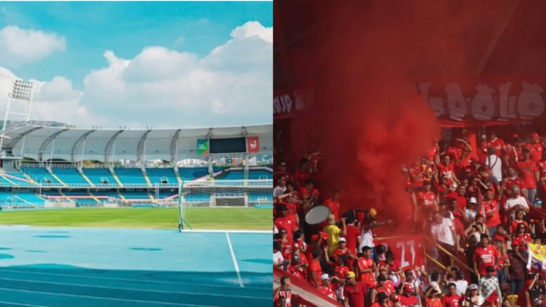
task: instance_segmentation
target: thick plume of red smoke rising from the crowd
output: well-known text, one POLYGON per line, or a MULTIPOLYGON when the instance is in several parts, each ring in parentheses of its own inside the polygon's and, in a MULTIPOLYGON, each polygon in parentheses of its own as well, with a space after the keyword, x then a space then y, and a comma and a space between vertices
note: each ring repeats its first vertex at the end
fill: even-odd
MULTIPOLYGON (((327 3, 325 10, 343 11, 344 3, 327 3)), ((300 114, 293 133, 301 138, 296 146, 313 134, 317 149, 328 155, 327 186, 345 191, 342 210, 376 208, 403 217, 411 205, 401 166, 424 156, 440 134, 416 81, 471 74, 482 51, 468 42, 490 39, 505 8, 500 2, 479 8, 451 1, 359 3, 340 15, 339 28, 337 21, 330 25, 320 43, 294 51, 290 72, 301 79, 296 81, 309 83, 306 76, 321 73, 311 82, 313 110, 300 114)))

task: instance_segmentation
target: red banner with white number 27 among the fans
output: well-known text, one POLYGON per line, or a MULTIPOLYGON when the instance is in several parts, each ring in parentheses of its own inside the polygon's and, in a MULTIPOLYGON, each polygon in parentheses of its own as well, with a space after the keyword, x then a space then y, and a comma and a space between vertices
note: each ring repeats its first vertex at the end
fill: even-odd
POLYGON ((400 261, 403 269, 425 267, 424 239, 422 235, 408 235, 393 239, 385 238, 376 241, 376 245, 383 244, 390 248, 394 258, 400 261))

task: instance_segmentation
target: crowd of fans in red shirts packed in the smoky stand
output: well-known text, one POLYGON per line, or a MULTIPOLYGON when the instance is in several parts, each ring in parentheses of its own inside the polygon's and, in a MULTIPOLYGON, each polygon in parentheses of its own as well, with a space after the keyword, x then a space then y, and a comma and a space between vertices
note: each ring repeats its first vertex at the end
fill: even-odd
POLYGON ((537 134, 523 137, 508 144, 491 132, 474 153, 463 131, 445 150, 436 140, 426 157, 403 167, 414 231, 434 242, 426 247, 437 259, 430 272, 401 268, 375 246, 373 228, 392 221, 378 222, 373 209, 340 214, 338 191, 321 198, 311 157, 293 174, 277 161, 274 265, 286 275, 275 306, 297 305, 293 278, 348 307, 545 306, 546 278, 527 269, 527 244, 546 239, 544 216, 529 214, 546 195, 546 152, 537 134), (321 204, 330 208, 327 221, 307 225, 306 212, 321 204))

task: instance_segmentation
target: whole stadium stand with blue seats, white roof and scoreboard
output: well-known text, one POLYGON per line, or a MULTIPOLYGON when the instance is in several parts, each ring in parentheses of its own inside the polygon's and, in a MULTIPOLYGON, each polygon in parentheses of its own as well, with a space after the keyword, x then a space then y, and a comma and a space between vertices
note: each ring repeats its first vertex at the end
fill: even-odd
POLYGON ((271 162, 260 158, 272 153, 272 125, 189 129, 24 125, 5 130, 3 137, 2 208, 272 204, 271 162), (188 187, 185 196, 180 193, 182 182, 188 187))

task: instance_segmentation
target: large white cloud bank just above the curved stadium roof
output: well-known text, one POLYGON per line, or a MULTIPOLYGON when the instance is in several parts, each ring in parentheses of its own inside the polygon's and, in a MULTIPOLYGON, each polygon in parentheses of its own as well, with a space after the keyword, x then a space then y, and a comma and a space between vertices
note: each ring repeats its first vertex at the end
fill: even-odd
MULTIPOLYGON (((134 128, 269 123, 272 33, 247 22, 204 57, 162 46, 148 46, 133 59, 105 51, 107 66, 88 73, 82 91, 63 77, 39 82, 31 117, 134 128)), ((0 115, 14 78, 0 68, 0 115)))

